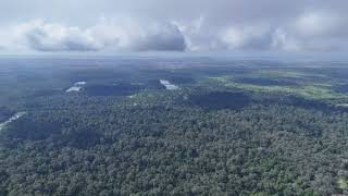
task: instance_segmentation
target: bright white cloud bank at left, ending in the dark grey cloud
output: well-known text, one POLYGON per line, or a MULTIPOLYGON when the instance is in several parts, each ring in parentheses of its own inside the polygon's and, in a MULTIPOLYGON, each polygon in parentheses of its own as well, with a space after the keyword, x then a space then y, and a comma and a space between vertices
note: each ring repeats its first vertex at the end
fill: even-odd
MULTIPOLYGON (((101 51, 113 50, 179 50, 186 49, 185 39, 173 24, 100 23, 80 28, 34 21, 8 28, 3 47, 16 42, 36 51, 101 51), (9 39, 8 39, 9 40, 9 39)), ((1 41, 0 41, 1 42, 1 41)))

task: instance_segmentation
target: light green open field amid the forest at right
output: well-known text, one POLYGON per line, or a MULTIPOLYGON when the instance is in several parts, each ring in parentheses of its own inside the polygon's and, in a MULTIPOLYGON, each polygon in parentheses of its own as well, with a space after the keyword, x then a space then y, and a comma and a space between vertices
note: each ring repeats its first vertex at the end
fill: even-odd
POLYGON ((337 86, 346 83, 323 74, 271 70, 247 74, 247 77, 245 75, 222 75, 209 77, 209 79, 215 81, 226 87, 296 95, 308 99, 326 101, 336 106, 344 106, 348 102, 347 93, 335 90, 337 86), (248 81, 244 78, 248 78, 248 81))

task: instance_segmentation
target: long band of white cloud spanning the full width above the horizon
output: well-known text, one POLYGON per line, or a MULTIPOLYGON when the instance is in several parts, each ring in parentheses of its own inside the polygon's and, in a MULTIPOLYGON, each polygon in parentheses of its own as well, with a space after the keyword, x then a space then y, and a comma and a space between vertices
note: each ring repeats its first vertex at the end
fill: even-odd
MULTIPOLYGON (((269 5, 274 4, 273 0, 265 1, 269 5)), ((332 9, 300 9, 299 5, 290 7, 291 3, 275 3, 266 12, 266 7, 258 10, 250 2, 246 0, 240 5, 235 0, 222 0, 222 4, 215 5, 203 1, 207 9, 201 13, 190 13, 189 8, 185 8, 182 15, 174 12, 181 3, 172 2, 173 10, 167 10, 167 15, 164 10, 169 8, 157 10, 147 5, 147 10, 153 9, 152 16, 142 19, 140 10, 139 15, 132 15, 132 12, 128 16, 105 14, 91 23, 94 25, 51 21, 0 24, 0 48, 1 51, 348 49, 348 17, 339 9, 335 12, 332 9), (234 5, 235 13, 225 12, 223 3, 234 5), (284 10, 285 5, 294 12, 284 10), (239 16, 238 8, 247 13, 240 12, 239 16), (273 14, 271 11, 276 9, 285 13, 273 14)))

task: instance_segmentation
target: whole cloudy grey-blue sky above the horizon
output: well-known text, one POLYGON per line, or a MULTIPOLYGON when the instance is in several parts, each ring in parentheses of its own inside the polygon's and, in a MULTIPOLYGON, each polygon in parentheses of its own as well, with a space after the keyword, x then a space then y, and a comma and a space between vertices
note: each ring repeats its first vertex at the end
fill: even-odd
POLYGON ((348 51, 347 0, 1 0, 0 53, 348 51))

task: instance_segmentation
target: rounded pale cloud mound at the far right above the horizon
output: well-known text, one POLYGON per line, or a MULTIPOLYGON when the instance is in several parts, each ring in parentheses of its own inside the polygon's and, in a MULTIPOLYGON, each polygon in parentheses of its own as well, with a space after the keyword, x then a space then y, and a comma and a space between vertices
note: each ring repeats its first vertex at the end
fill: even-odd
POLYGON ((272 47, 296 51, 347 50, 348 19, 327 11, 311 11, 276 27, 272 47))

